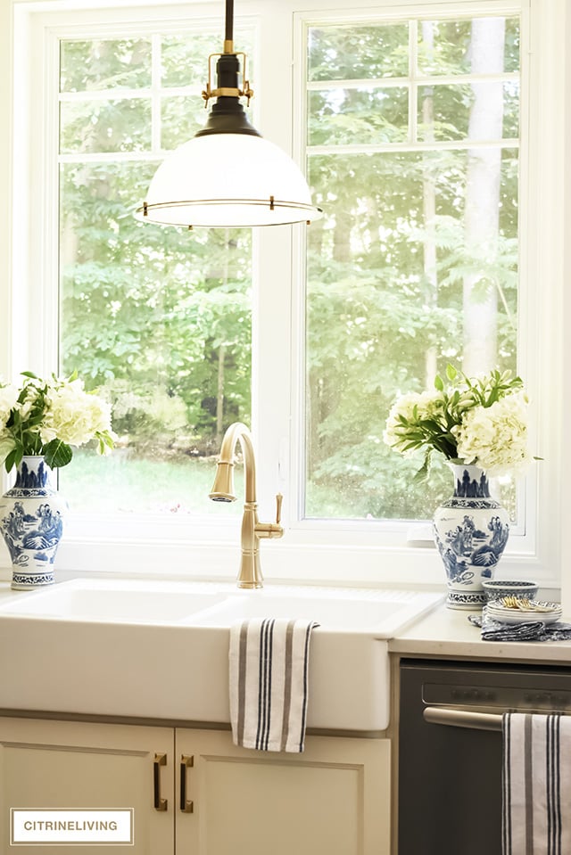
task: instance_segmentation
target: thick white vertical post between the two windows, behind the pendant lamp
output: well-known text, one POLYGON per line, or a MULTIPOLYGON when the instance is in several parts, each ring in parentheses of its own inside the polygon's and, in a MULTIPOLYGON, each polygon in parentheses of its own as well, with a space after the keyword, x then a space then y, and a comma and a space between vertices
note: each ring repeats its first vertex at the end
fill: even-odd
MULTIPOLYGON (((252 80, 258 129, 285 151, 292 151, 292 11, 289 4, 261 7, 259 61, 252 80)), ((275 514, 275 494, 284 494, 289 516, 293 485, 288 445, 291 428, 292 235, 305 226, 257 229, 254 235, 252 425, 259 455, 258 496, 263 517, 275 514), (257 251, 256 251, 257 248, 257 251)), ((268 550, 269 551, 269 550, 268 550)))

